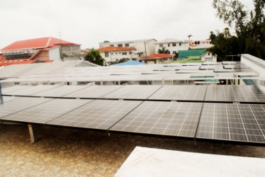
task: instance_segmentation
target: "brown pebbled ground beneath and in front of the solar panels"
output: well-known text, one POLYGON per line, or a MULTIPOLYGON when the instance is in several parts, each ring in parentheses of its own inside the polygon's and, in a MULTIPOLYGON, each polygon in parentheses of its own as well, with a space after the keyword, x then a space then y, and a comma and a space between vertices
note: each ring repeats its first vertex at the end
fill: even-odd
POLYGON ((0 124, 0 176, 113 176, 136 146, 265 158, 265 147, 0 124))

